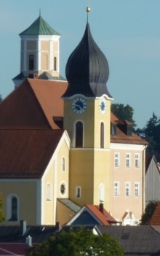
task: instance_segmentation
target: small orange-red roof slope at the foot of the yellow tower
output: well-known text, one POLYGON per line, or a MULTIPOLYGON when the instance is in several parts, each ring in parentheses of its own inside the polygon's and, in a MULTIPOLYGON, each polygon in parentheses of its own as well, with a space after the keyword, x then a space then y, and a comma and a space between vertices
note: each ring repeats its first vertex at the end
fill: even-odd
POLYGON ((92 204, 86 204, 85 206, 103 225, 111 225, 111 222, 116 223, 116 220, 105 209, 103 209, 103 212, 100 212, 100 206, 94 206, 92 204))

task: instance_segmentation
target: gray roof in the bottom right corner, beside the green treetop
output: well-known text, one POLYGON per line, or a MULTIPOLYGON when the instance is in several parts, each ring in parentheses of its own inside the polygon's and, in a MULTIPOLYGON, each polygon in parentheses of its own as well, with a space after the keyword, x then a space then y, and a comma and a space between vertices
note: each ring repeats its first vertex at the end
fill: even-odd
POLYGON ((160 233, 157 227, 144 226, 102 226, 96 229, 101 233, 108 233, 117 241, 125 254, 151 254, 160 250, 160 233))

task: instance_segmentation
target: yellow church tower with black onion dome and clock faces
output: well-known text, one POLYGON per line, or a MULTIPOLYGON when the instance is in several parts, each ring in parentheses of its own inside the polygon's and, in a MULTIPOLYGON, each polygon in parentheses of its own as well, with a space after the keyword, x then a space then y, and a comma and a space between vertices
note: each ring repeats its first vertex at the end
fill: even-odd
POLYGON ((104 202, 108 209, 113 98, 106 87, 108 61, 88 22, 81 42, 68 58, 65 74, 64 128, 71 138, 69 198, 80 206, 104 202))

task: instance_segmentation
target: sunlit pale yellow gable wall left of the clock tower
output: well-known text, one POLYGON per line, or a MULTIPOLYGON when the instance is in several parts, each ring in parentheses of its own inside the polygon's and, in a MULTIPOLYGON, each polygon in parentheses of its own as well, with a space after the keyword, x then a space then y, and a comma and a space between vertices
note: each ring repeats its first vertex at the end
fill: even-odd
POLYGON ((63 139, 57 147, 55 154, 45 171, 42 179, 42 224, 55 225, 57 198, 68 198, 69 179, 69 150, 68 143, 63 139), (63 171, 63 158, 65 159, 65 171, 63 171), (47 200, 47 184, 51 185, 51 200, 47 200), (60 192, 61 185, 65 185, 65 192, 60 192))

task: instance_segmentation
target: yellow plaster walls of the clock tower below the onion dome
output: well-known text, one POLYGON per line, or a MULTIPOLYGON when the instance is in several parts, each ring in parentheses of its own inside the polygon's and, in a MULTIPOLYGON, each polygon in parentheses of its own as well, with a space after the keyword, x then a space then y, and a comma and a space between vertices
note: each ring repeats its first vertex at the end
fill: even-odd
MULTIPOLYGON (((102 97, 103 98, 103 97, 102 97)), ((85 203, 109 204, 109 170, 110 170, 110 115, 111 101, 106 100, 106 112, 100 112, 101 98, 74 96, 64 99, 64 127, 71 138, 70 152, 70 198, 80 206, 85 203), (84 98, 86 110, 77 114, 73 112, 75 98, 84 98), (83 123, 83 146, 76 147, 76 123, 83 123), (104 124, 104 147, 100 146, 100 125, 104 124), (77 196, 77 188, 80 195, 77 196)))

